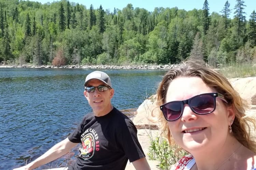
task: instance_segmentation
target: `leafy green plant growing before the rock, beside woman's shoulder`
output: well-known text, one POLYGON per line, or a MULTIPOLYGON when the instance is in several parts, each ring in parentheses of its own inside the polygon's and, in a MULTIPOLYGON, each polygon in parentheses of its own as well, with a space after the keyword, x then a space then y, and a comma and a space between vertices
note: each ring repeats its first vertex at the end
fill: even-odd
POLYGON ((179 156, 175 155, 176 147, 171 148, 165 138, 156 137, 153 139, 150 137, 151 146, 149 147, 148 157, 150 160, 158 160, 159 168, 162 170, 168 170, 171 165, 179 161, 180 157, 187 155, 185 151, 180 151, 179 156))

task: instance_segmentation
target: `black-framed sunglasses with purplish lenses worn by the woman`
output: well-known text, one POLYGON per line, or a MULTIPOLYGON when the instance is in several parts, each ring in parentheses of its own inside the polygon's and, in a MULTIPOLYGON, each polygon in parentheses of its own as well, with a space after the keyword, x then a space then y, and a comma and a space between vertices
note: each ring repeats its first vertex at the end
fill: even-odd
POLYGON ((160 110, 167 121, 174 121, 181 117, 184 109, 184 104, 188 104, 191 111, 198 115, 206 115, 212 113, 216 107, 216 97, 219 97, 228 103, 224 96, 220 93, 205 93, 187 100, 171 101, 160 106, 160 110))

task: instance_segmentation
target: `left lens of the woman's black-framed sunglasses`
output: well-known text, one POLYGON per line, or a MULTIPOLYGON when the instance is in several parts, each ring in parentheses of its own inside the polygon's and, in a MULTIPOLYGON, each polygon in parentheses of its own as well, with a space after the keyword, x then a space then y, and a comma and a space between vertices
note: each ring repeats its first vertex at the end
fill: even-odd
POLYGON ((176 120, 181 115, 182 106, 180 102, 170 102, 163 106, 163 114, 167 120, 176 120))

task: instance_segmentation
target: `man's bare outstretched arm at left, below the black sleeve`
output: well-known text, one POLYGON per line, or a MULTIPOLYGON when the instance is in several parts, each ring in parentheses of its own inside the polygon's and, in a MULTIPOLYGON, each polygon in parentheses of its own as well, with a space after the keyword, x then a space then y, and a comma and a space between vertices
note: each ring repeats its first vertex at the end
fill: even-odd
POLYGON ((54 145, 51 149, 45 152, 42 156, 35 159, 33 162, 29 163, 26 166, 16 168, 14 170, 32 170, 53 160, 61 157, 62 155, 66 154, 70 149, 76 146, 77 143, 71 142, 68 138, 62 140, 61 142, 54 145))

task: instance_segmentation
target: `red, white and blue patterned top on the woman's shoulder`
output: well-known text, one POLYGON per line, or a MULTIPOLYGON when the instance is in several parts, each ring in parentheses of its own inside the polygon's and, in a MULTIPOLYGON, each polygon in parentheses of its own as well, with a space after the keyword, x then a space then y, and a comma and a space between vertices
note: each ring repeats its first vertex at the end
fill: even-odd
MULTIPOLYGON (((190 170, 195 163, 195 159, 192 155, 185 155, 174 165, 174 167, 171 168, 171 170, 190 170)), ((256 170, 256 164, 254 164, 254 161, 251 170, 256 170)))

